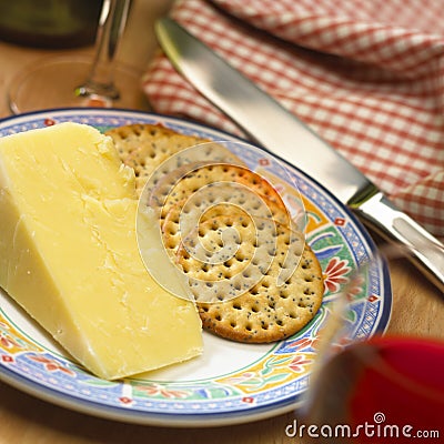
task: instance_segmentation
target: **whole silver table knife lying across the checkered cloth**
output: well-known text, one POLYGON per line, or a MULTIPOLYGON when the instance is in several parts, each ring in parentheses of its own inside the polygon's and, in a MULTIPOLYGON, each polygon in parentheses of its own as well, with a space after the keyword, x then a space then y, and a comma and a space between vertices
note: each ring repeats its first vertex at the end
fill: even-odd
POLYGON ((444 293, 444 245, 437 239, 305 123, 174 20, 158 20, 155 33, 178 72, 253 142, 316 180, 384 239, 402 244, 444 293))

